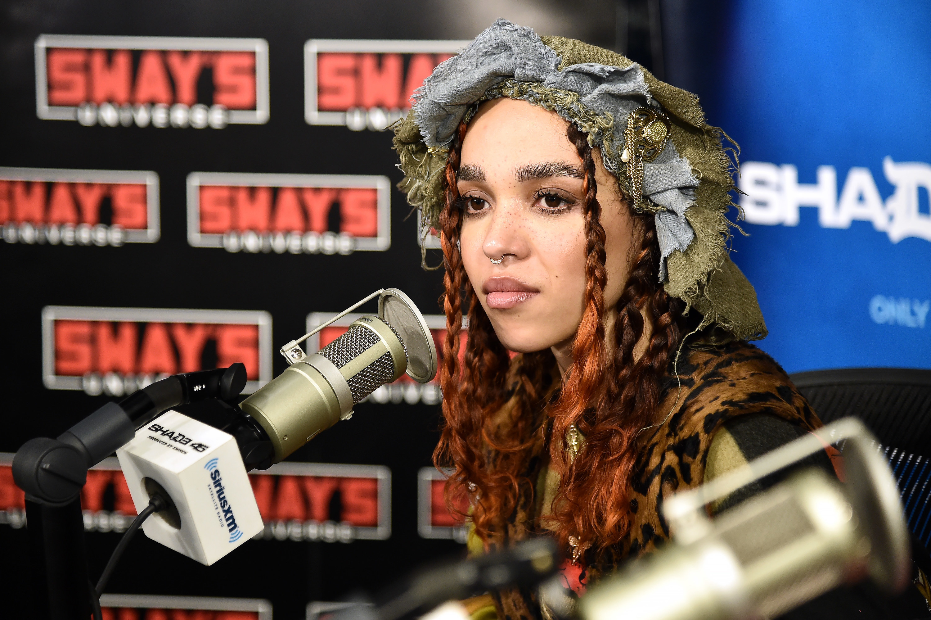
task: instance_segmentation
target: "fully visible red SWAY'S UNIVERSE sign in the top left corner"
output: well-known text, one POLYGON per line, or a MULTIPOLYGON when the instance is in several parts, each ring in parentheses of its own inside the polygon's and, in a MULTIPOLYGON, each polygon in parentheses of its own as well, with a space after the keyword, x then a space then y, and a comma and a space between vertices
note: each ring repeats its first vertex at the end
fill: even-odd
POLYGON ((264 39, 41 34, 35 112, 104 127, 268 122, 264 39))

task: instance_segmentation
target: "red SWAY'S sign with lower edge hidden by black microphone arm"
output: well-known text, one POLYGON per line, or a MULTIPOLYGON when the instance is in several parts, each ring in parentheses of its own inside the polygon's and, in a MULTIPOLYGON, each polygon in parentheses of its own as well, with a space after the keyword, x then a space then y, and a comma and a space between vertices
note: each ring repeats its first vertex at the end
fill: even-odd
POLYGON ((123 396, 178 372, 246 365, 250 394, 272 379, 272 317, 246 310, 98 308, 42 310, 42 379, 48 389, 123 396))

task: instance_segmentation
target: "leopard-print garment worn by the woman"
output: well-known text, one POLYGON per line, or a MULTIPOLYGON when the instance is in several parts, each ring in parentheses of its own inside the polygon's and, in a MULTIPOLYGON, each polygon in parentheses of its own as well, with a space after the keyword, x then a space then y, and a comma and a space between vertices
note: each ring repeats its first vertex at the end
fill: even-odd
MULTIPOLYGON (((589 585, 626 559, 650 553, 668 540, 663 501, 701 484, 711 438, 724 423, 738 415, 768 413, 806 430, 821 425, 786 372, 752 344, 738 341, 712 350, 683 349, 677 370, 678 378, 670 364, 662 386, 657 419, 663 422, 639 440, 640 456, 630 489, 630 531, 616 548, 587 551, 589 585)), ((542 445, 532 452, 527 477, 537 479, 546 467, 546 455, 542 445)), ((506 528, 489 541, 488 550, 539 535, 539 510, 533 492, 525 493, 506 528)), ((492 598, 500 620, 541 618, 532 588, 509 588, 493 592, 492 598)))

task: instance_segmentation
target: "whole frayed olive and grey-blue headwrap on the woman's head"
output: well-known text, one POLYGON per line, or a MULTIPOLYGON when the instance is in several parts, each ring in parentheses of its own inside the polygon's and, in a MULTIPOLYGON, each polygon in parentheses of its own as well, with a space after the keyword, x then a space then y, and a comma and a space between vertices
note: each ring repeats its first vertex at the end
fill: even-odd
POLYGON ((722 131, 705 123, 694 95, 600 47, 541 38, 497 20, 426 78, 411 114, 395 127, 405 173, 398 188, 420 209, 422 230, 439 228, 456 129, 481 101, 500 97, 528 101, 573 123, 600 150, 625 195, 642 193, 638 210, 655 214, 660 282, 701 313, 702 327, 711 328, 703 331, 709 344, 766 335, 756 293, 725 246, 734 182, 722 131), (668 119, 669 140, 652 161, 641 161, 640 179, 625 154, 633 148, 625 132, 631 113, 643 108, 668 119))

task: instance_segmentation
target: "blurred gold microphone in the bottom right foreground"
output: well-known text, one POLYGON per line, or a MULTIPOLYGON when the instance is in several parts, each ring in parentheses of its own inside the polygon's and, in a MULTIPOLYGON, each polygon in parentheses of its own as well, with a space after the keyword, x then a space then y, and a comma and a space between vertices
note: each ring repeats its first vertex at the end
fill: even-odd
POLYGON ((673 543, 580 601, 584 620, 762 618, 869 574, 908 582, 909 537, 896 481, 875 439, 839 420, 693 491, 669 498, 673 543), (812 468, 708 519, 704 505, 845 440, 845 484, 812 468))

